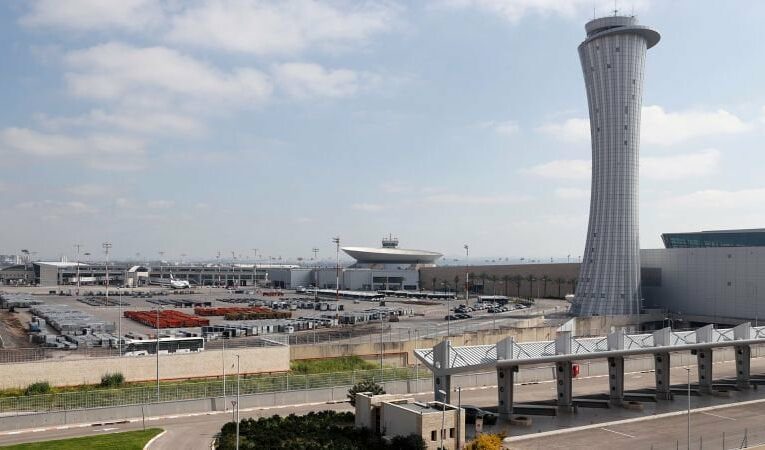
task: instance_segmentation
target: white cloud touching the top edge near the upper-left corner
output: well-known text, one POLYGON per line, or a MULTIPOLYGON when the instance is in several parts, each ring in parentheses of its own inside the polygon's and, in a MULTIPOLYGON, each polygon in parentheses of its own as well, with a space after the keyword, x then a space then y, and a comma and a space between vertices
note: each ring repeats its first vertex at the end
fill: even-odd
POLYGON ((161 23, 163 14, 156 0, 36 0, 21 23, 70 30, 138 31, 161 23))

